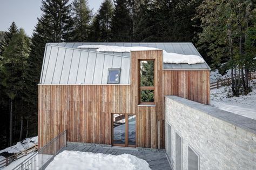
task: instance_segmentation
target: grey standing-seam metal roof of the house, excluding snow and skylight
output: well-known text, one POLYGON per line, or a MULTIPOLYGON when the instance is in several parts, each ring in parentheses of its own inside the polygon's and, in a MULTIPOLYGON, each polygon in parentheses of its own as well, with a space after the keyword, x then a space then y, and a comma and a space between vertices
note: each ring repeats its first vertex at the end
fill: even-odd
MULTIPOLYGON (((48 43, 45 46, 40 84, 107 84, 109 68, 121 68, 119 84, 130 84, 130 52, 77 49, 80 45, 147 46, 200 56, 192 43, 48 43)), ((210 70, 210 67, 206 63, 164 63, 164 69, 210 70)))

